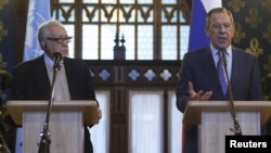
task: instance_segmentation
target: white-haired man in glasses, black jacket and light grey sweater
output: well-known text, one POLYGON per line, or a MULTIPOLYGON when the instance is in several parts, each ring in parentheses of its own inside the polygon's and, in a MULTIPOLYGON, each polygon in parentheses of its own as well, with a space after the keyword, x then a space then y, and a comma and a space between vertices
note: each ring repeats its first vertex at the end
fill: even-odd
MULTIPOLYGON (((11 88, 12 100, 49 100, 54 71, 54 54, 61 54, 61 68, 56 73, 54 100, 95 100, 92 77, 81 60, 68 58, 70 38, 57 21, 40 25, 38 39, 44 53, 14 67, 11 88)), ((99 116, 101 117, 100 110, 99 116)), ((90 125, 91 126, 91 125, 90 125)), ((67 127, 68 128, 68 127, 67 127)), ((85 127, 85 153, 92 153, 88 127, 85 127)))

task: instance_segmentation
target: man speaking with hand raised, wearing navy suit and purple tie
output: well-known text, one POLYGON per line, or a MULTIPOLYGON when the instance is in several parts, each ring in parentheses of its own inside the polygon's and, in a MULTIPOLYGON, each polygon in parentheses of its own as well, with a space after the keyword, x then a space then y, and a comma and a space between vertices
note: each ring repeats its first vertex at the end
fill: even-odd
MULTIPOLYGON (((225 52, 227 72, 233 99, 238 101, 262 100, 261 77, 256 55, 231 46, 234 22, 224 8, 212 9, 206 17, 206 34, 210 46, 188 52, 182 62, 177 82, 177 107, 184 112, 189 101, 228 100, 217 73, 218 52, 225 52)), ((183 153, 197 153, 197 127, 185 126, 183 153)))

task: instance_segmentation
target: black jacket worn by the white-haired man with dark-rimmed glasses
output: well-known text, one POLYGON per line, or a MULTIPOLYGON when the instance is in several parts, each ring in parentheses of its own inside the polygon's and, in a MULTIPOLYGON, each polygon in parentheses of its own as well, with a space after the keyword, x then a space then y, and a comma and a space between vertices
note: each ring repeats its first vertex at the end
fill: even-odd
MULTIPOLYGON (((92 77, 88 65, 74 59, 64 59, 67 84, 72 100, 95 100, 92 77)), ((11 100, 49 100, 50 80, 43 55, 18 64, 13 69, 11 100)), ((91 125, 90 125, 91 126, 91 125)), ((68 128, 68 127, 67 127, 68 128)), ((90 135, 85 128, 85 152, 92 152, 90 135)))

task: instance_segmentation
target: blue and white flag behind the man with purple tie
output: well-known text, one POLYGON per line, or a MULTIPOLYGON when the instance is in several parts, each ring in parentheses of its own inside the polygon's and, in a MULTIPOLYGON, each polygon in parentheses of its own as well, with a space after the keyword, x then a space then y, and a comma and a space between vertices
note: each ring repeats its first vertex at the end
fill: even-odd
POLYGON ((205 17, 214 9, 222 7, 222 0, 193 0, 189 51, 194 51, 209 44, 209 38, 205 33, 205 17))

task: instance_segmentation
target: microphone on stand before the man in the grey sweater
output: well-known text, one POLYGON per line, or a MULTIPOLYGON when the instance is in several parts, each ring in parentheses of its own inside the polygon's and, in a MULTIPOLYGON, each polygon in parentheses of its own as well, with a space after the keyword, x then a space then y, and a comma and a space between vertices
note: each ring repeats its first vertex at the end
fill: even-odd
POLYGON ((51 133, 49 130, 49 119, 52 109, 52 101, 53 101, 53 94, 54 94, 54 82, 55 82, 55 75, 56 75, 57 67, 53 66, 53 79, 52 79, 52 86, 50 89, 50 99, 47 107, 47 116, 46 122, 43 125, 43 130, 40 132, 40 143, 39 143, 39 152, 38 153, 50 153, 50 144, 51 144, 51 133))

